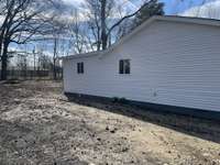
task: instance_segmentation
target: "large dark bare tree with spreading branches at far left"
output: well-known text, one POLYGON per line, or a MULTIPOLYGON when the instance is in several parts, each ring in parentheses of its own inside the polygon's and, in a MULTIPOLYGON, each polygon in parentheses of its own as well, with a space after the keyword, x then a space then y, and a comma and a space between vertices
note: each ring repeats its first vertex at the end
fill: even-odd
POLYGON ((53 10, 51 1, 44 0, 1 0, 0 8, 1 79, 4 80, 10 43, 25 44, 34 35, 45 34, 53 19, 53 10))

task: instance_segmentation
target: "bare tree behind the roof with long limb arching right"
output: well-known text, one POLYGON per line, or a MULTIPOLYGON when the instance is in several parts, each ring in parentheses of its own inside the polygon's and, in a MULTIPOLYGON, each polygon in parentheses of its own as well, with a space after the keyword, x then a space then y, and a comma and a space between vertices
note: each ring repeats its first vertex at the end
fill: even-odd
MULTIPOLYGON (((123 26, 120 26, 123 22, 130 18, 135 16, 143 9, 147 9, 152 6, 155 0, 143 0, 143 4, 135 12, 125 14, 121 16, 118 21, 114 21, 114 12, 117 7, 116 0, 86 0, 86 7, 88 9, 87 18, 88 24, 94 34, 95 44, 97 45, 97 51, 106 50, 111 44, 111 36, 116 29, 122 31, 123 26), (112 23, 114 22, 114 23, 112 23)), ((155 3, 156 4, 156 3, 155 3)), ((120 13, 120 12, 119 12, 120 13)))

